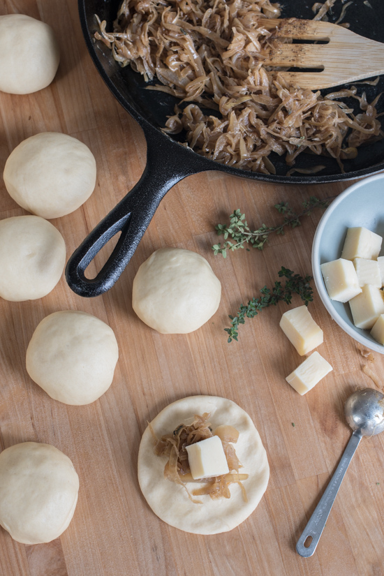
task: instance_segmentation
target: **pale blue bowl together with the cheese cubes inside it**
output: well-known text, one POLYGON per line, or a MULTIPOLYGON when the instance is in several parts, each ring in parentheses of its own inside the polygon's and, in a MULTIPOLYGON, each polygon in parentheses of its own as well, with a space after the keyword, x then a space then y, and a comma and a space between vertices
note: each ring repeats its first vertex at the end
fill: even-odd
POLYGON ((324 212, 312 270, 325 308, 353 339, 384 354, 384 174, 360 180, 324 212))

